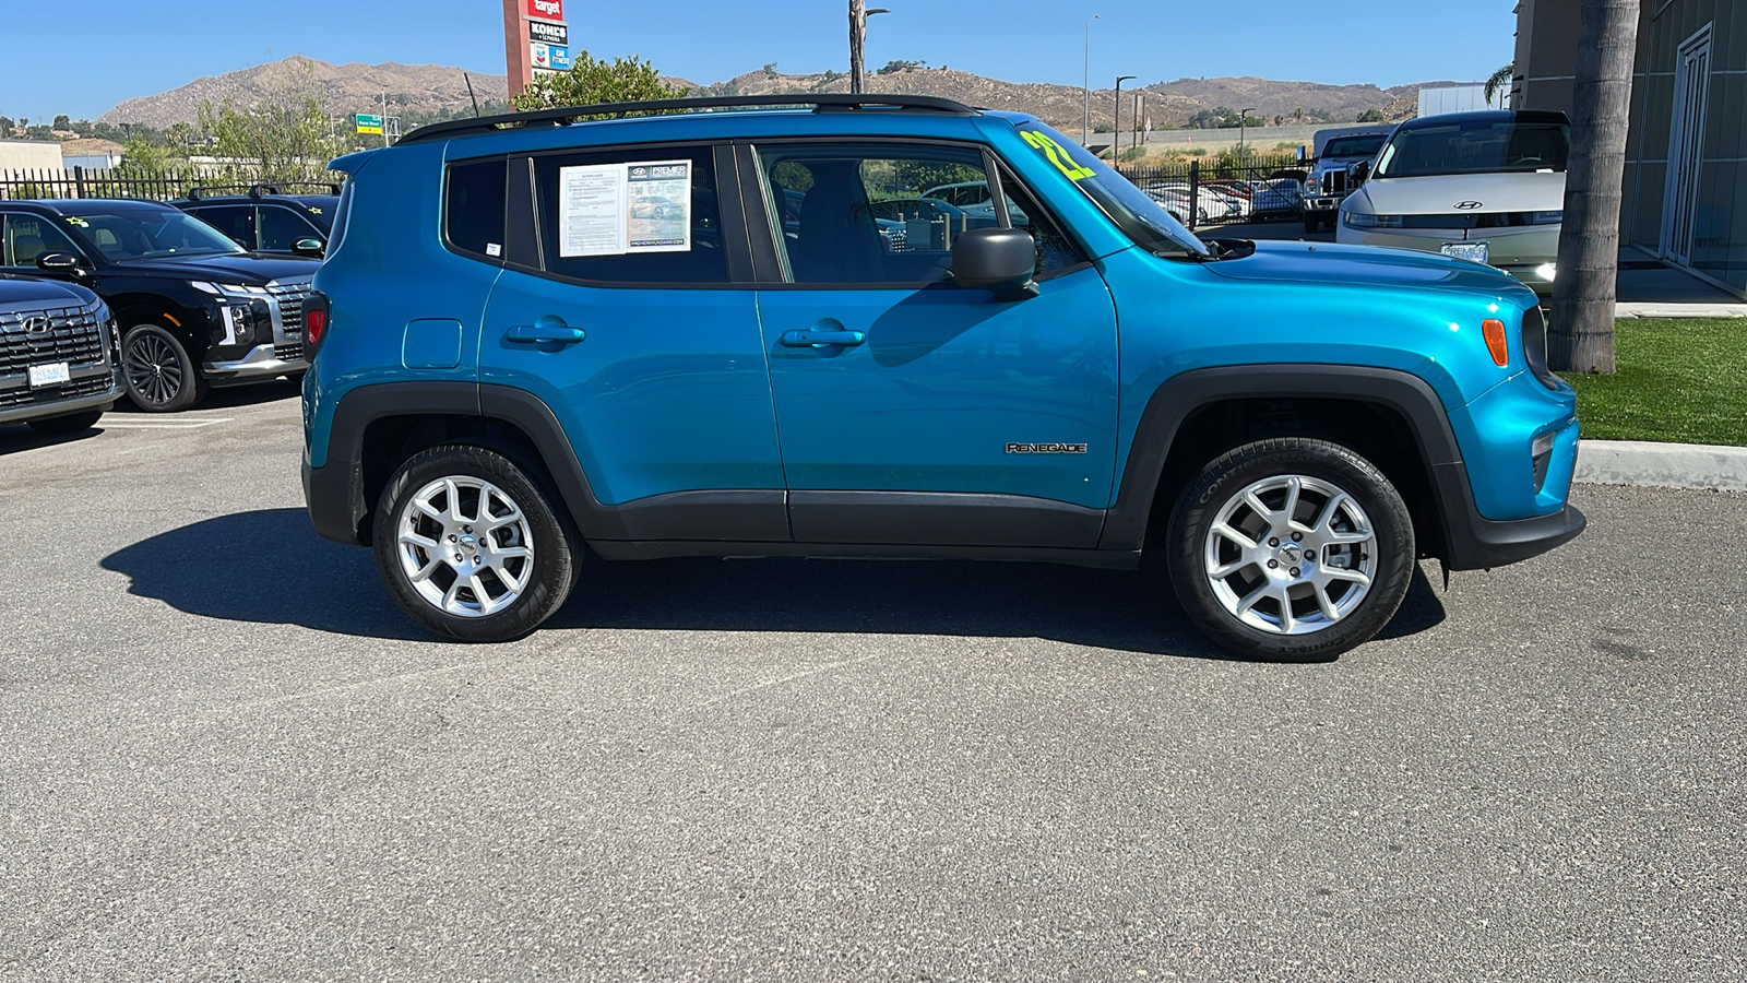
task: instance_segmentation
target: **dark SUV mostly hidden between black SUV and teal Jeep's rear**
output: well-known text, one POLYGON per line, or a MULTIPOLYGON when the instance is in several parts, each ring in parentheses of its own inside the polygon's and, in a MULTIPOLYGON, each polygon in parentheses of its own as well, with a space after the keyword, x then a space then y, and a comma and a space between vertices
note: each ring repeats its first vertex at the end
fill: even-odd
POLYGON ((321 255, 334 231, 339 185, 290 182, 194 187, 187 198, 171 205, 199 217, 250 252, 321 255), (314 187, 321 192, 285 194, 292 187, 314 187))

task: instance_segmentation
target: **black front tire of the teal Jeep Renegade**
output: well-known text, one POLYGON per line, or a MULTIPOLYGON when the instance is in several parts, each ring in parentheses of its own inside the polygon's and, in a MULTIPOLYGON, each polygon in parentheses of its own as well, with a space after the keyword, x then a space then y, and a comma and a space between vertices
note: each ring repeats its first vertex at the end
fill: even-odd
POLYGON ((1401 607, 1417 556, 1413 519, 1384 472, 1349 448, 1307 437, 1256 441, 1207 462, 1177 497, 1167 535, 1170 582, 1197 628, 1225 649, 1268 659, 1333 658, 1370 640, 1401 607), (1270 492, 1256 493, 1261 505, 1274 509, 1267 514, 1288 516, 1288 500, 1296 502, 1296 509, 1272 519, 1270 526, 1263 512, 1242 504, 1242 493, 1274 481, 1288 483, 1288 490, 1275 498, 1268 498, 1270 492), (1295 495, 1289 488, 1300 488, 1296 497, 1289 497, 1295 495), (1350 497, 1359 511, 1352 512, 1328 488, 1350 497), (1214 533, 1221 514, 1240 535, 1254 535, 1254 551, 1214 533), (1233 525, 1239 516, 1247 525, 1233 525), (1331 521, 1324 523, 1324 516, 1331 521), (1288 526, 1288 521, 1296 525, 1288 526), (1307 530, 1296 533, 1305 539, 1295 542, 1288 528, 1307 530), (1370 540, 1319 546, 1364 532, 1370 540), (1324 549, 1322 556, 1315 556, 1317 549, 1324 549), (1249 561, 1251 556, 1256 560, 1249 561), (1216 565, 1219 560, 1225 563, 1216 565), (1233 572, 1216 577, 1226 565, 1233 572), (1364 570, 1370 570, 1370 582, 1357 589, 1352 572, 1364 570), (1254 600, 1258 595, 1261 600, 1254 600), (1235 609, 1228 607, 1233 598, 1235 609), (1281 612, 1281 598, 1286 612, 1281 612), (1251 602, 1247 612, 1237 610, 1246 600, 1251 602), (1319 600, 1329 607, 1321 607, 1319 600), (1329 609, 1336 617, 1326 614, 1329 609), (1302 633, 1286 633, 1282 626, 1302 633))

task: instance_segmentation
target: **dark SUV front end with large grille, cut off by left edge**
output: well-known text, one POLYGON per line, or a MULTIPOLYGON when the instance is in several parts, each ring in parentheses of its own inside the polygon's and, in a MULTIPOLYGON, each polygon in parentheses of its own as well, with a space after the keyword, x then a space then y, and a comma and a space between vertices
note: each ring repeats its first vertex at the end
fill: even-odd
POLYGON ((115 318, 91 290, 0 275, 0 423, 91 427, 121 399, 119 350, 115 318))

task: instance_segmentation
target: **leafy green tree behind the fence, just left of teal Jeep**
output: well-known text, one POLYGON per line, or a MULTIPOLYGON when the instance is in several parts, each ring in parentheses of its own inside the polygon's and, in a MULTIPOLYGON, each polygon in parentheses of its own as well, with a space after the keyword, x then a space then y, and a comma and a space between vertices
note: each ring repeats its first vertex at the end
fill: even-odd
POLYGON ((323 180, 327 163, 349 147, 334 135, 321 84, 309 61, 274 75, 245 105, 225 98, 199 107, 199 129, 222 177, 238 182, 323 180))

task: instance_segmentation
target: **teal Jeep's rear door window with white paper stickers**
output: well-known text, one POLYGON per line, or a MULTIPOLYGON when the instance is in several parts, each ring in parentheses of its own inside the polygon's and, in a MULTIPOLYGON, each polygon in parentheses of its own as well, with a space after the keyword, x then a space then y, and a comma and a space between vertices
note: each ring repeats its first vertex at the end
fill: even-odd
POLYGON ((535 157, 542 266, 599 283, 727 283, 709 147, 535 157))

